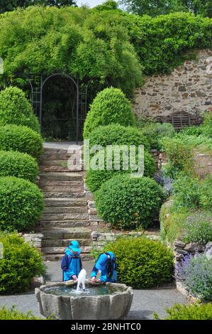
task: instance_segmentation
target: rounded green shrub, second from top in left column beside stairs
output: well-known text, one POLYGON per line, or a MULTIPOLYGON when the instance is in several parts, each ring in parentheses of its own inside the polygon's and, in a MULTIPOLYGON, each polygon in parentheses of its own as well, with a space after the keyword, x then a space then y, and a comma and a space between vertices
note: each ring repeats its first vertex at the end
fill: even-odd
POLYGON ((0 126, 0 147, 4 151, 19 151, 39 158, 43 151, 43 139, 27 126, 0 126))

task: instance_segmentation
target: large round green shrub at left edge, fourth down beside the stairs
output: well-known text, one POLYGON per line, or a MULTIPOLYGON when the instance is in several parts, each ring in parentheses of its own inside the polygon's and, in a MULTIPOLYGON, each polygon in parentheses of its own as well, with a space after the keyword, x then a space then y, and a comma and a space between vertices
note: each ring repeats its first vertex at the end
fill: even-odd
POLYGON ((13 176, 0 178, 0 230, 30 230, 43 209, 43 193, 37 185, 13 176))

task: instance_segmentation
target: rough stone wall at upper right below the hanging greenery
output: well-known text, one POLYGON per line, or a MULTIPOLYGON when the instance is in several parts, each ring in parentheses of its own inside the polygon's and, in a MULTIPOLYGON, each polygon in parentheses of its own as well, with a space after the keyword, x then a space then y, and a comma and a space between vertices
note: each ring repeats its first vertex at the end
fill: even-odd
POLYGON ((196 51, 170 75, 148 77, 136 90, 135 114, 167 117, 176 112, 199 115, 212 108, 212 50, 196 51))

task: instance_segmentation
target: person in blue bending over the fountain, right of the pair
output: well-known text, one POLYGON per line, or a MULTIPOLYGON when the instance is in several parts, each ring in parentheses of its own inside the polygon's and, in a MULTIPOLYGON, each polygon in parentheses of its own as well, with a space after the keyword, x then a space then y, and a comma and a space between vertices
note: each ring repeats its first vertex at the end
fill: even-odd
POLYGON ((92 282, 96 282, 96 276, 100 274, 100 278, 97 282, 113 282, 117 281, 116 271, 116 257, 112 252, 105 252, 99 255, 99 258, 94 265, 91 272, 92 282))

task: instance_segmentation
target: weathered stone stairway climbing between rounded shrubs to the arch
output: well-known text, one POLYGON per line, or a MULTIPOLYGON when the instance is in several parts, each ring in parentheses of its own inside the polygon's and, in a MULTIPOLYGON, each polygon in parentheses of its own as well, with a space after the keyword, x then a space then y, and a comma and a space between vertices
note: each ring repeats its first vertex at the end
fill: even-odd
POLYGON ((70 240, 77 239, 82 259, 90 259, 91 228, 84 191, 84 172, 76 166, 69 171, 67 161, 76 158, 75 149, 45 149, 40 157, 39 187, 45 196, 45 212, 39 222, 44 237, 45 260, 62 257, 70 240))

